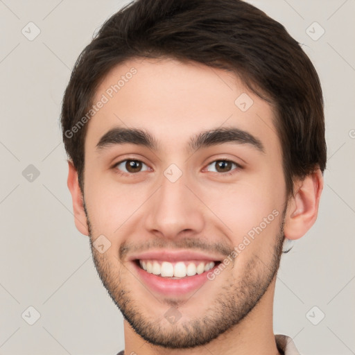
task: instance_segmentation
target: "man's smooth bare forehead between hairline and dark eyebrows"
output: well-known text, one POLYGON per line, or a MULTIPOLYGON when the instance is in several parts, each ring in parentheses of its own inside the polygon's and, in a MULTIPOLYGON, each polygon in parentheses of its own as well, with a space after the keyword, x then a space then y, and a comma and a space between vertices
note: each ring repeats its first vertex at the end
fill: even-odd
POLYGON ((115 127, 144 129, 172 150, 218 127, 236 127, 279 145, 272 107, 234 73, 196 62, 128 60, 105 76, 93 104, 100 101, 88 123, 85 149, 115 127))

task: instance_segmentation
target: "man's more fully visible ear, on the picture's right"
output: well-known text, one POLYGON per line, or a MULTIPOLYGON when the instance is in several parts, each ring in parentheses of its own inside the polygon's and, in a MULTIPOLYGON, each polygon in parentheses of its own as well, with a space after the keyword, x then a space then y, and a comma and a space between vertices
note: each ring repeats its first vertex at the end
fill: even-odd
POLYGON ((295 182, 295 193, 288 200, 285 216, 286 239, 301 238, 315 223, 322 189, 323 175, 319 168, 295 182))

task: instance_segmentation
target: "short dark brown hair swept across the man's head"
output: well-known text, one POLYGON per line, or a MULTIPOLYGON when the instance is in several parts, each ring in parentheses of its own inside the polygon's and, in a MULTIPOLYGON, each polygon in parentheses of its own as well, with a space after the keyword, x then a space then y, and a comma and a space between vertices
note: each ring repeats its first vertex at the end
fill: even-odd
POLYGON ((87 114, 108 71, 131 58, 175 58, 236 73, 272 103, 286 192, 327 161, 322 89, 313 64, 279 22, 241 0, 138 0, 112 15, 80 54, 62 102, 64 146, 83 192, 87 114))

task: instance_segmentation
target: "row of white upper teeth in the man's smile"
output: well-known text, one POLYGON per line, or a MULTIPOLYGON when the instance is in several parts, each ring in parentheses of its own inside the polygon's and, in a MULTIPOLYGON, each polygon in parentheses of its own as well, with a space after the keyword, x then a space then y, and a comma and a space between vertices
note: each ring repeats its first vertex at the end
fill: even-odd
POLYGON ((179 261, 178 263, 169 263, 168 261, 145 261, 139 260, 141 268, 154 275, 162 277, 185 277, 202 274, 202 272, 211 270, 214 267, 214 261, 207 262, 187 262, 179 261))

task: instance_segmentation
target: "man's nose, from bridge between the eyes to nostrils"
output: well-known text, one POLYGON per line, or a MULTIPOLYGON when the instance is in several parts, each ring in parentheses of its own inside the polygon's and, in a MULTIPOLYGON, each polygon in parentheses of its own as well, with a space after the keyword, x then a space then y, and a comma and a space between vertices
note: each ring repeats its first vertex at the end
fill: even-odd
POLYGON ((184 174, 175 182, 163 175, 161 182, 148 201, 146 230, 166 239, 199 234, 205 223, 204 206, 196 197, 198 191, 192 182, 184 174))

